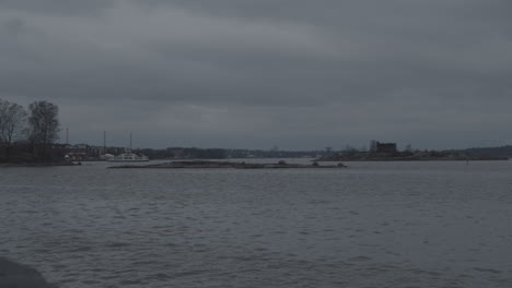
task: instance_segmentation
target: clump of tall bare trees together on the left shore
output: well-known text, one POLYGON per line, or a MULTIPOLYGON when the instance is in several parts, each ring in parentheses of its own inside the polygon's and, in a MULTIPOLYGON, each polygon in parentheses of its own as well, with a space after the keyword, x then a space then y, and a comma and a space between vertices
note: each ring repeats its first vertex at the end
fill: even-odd
POLYGON ((34 101, 27 108, 0 98, 0 160, 49 160, 59 139, 59 107, 34 101))

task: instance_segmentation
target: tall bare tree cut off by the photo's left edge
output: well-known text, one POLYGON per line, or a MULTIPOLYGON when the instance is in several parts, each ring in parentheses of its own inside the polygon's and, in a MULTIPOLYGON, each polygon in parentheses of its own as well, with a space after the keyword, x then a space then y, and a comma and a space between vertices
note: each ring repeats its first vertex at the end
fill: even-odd
POLYGON ((0 99, 0 142, 8 160, 12 143, 25 134, 25 121, 26 111, 21 105, 0 99))

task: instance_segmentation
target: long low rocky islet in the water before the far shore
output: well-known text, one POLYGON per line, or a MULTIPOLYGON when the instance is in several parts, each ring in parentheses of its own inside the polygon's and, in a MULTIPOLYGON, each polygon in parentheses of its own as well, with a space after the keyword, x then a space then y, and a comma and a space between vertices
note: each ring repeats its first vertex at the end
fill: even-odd
POLYGON ((286 168, 346 168, 344 164, 338 165, 318 165, 313 163, 312 165, 303 164, 287 164, 286 161, 279 161, 277 164, 256 164, 256 163, 232 163, 232 161, 171 161, 164 164, 152 164, 152 165, 123 165, 109 167, 112 169, 143 169, 143 168, 159 168, 159 169, 219 169, 219 168, 232 168, 232 169, 286 169, 286 168))

